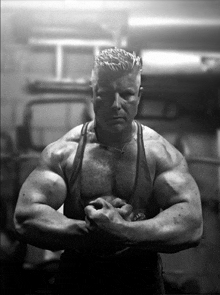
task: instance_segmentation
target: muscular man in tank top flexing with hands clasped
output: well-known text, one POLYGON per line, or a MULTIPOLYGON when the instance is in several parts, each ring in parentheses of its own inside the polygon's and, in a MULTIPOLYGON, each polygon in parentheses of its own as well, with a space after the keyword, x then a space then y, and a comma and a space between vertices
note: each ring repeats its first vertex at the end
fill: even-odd
POLYGON ((60 295, 163 294, 158 253, 201 238, 200 194, 184 157, 134 120, 141 66, 122 49, 96 57, 95 119, 47 146, 21 188, 18 233, 64 250, 60 295))

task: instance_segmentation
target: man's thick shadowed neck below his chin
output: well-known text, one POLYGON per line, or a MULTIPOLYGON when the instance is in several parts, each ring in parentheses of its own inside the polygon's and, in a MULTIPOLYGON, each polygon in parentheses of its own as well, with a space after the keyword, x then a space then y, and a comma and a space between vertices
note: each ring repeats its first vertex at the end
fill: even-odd
POLYGON ((94 132, 96 134, 97 141, 104 145, 110 145, 115 147, 121 147, 125 143, 132 140, 135 137, 136 124, 134 121, 120 132, 110 132, 103 130, 97 122, 94 122, 94 132))

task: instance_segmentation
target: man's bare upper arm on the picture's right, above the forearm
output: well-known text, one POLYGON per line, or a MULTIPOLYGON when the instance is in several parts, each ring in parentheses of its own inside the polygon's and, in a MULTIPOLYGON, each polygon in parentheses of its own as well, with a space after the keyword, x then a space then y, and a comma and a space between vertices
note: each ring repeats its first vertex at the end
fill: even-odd
POLYGON ((178 203, 199 205, 198 186, 183 155, 163 138, 154 155, 157 167, 154 195, 160 208, 164 210, 178 203))

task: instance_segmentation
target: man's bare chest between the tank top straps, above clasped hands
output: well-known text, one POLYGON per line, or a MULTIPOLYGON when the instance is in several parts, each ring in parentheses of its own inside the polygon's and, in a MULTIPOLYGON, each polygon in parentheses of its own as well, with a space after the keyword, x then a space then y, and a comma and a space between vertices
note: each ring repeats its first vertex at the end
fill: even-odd
POLYGON ((118 150, 88 145, 81 170, 81 194, 84 201, 113 195, 125 200, 131 195, 137 173, 137 146, 122 154, 118 150))

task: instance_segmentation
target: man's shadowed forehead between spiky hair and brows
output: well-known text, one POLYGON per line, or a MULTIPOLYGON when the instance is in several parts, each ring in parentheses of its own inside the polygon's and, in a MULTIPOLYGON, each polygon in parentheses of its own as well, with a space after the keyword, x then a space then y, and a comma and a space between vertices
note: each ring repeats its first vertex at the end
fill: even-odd
POLYGON ((113 74, 108 75, 103 73, 98 75, 97 88, 102 89, 126 89, 134 88, 135 90, 140 87, 140 73, 131 72, 126 74, 113 74))

